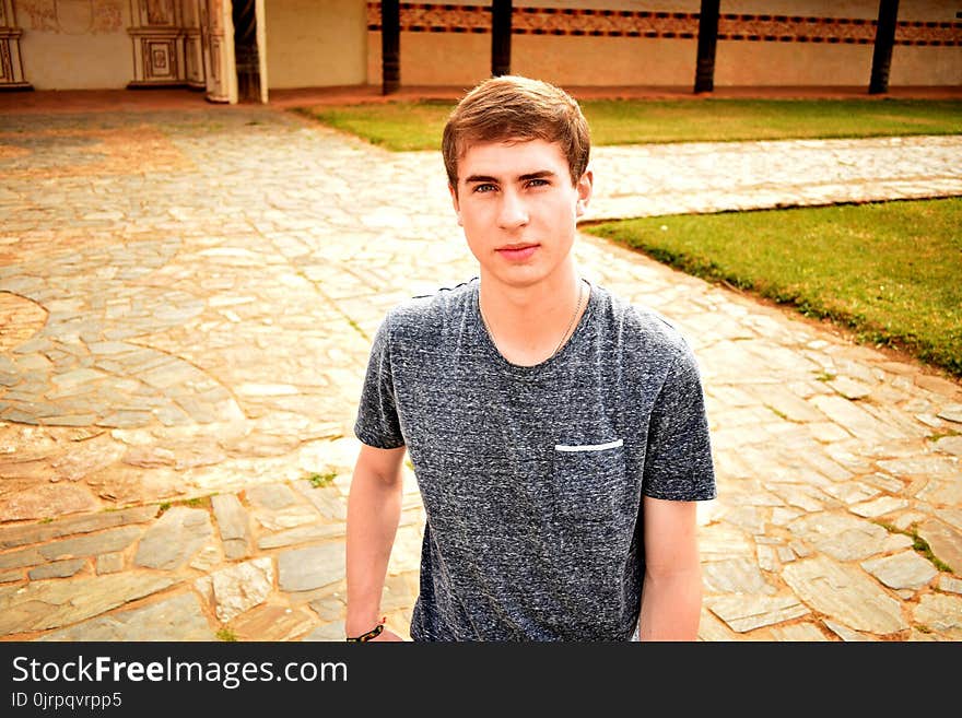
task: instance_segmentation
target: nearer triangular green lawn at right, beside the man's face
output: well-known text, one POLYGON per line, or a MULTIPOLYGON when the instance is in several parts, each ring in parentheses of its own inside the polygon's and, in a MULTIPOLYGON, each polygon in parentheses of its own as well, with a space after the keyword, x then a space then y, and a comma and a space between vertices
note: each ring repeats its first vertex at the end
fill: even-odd
POLYGON ((580 229, 962 377, 962 198, 645 217, 580 229))

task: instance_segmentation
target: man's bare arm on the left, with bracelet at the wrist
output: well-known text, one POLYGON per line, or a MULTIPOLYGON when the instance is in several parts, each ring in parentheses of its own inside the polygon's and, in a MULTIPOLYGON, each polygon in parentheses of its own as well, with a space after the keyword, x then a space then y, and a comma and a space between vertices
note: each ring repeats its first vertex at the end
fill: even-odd
MULTIPOLYGON (((380 595, 401 517, 406 447, 362 444, 348 496, 348 615, 344 631, 356 636, 380 621, 380 595)), ((375 640, 400 640, 385 628, 375 640)))

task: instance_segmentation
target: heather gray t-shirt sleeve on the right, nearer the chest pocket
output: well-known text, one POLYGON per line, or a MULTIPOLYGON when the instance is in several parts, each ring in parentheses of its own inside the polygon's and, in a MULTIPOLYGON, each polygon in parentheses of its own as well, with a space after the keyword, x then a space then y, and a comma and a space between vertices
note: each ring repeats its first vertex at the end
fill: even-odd
POLYGON ((705 397, 695 356, 683 346, 652 410, 642 493, 707 501, 715 498, 716 490, 705 397))

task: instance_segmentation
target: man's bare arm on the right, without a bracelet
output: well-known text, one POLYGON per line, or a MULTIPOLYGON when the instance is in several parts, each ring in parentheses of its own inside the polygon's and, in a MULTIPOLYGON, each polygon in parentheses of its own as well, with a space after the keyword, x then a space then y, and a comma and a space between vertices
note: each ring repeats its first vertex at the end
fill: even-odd
POLYGON ((644 497, 641 640, 696 640, 702 568, 695 502, 644 497))

